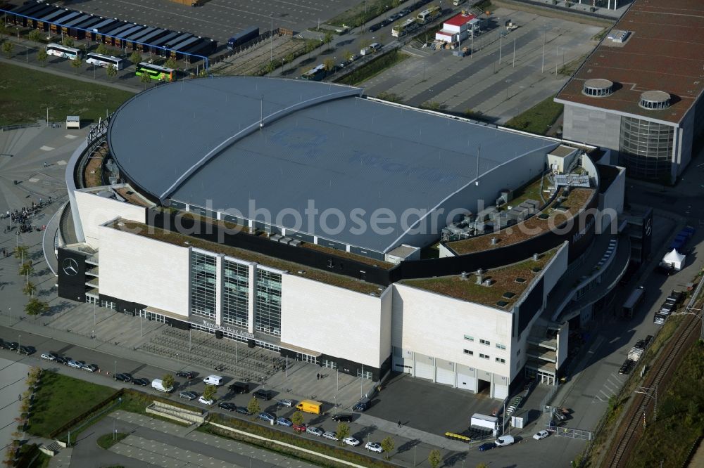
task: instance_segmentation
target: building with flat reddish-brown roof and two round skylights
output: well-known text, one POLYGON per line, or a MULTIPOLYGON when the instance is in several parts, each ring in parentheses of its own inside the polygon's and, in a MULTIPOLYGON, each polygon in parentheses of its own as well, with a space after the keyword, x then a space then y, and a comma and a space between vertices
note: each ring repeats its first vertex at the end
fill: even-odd
POLYGON ((704 4, 635 0, 560 90, 563 136, 670 183, 704 142, 704 4))

